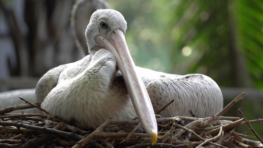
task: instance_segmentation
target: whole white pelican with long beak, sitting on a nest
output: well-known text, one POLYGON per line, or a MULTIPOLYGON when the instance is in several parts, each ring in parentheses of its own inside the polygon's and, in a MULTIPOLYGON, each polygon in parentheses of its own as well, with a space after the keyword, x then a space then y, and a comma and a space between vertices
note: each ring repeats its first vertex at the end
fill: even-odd
MULTIPOLYGON (((136 67, 125 41, 127 23, 113 9, 95 11, 86 28, 88 55, 49 70, 38 81, 36 101, 50 115, 80 128, 97 128, 110 116, 138 116, 145 131, 157 140, 154 111, 175 100, 163 117, 209 117, 223 109, 217 83, 203 74, 166 74, 136 67)), ((42 113, 38 111, 38 113, 42 113)))

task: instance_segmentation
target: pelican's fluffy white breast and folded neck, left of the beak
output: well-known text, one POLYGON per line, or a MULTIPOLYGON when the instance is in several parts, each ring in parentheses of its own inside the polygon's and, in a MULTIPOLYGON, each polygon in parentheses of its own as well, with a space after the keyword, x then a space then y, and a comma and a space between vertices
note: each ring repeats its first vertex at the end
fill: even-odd
POLYGON ((74 119, 82 128, 96 128, 110 116, 116 120, 136 117, 123 79, 112 83, 116 73, 113 54, 100 49, 90 63, 89 59, 86 56, 69 65, 41 107, 66 122, 74 119))

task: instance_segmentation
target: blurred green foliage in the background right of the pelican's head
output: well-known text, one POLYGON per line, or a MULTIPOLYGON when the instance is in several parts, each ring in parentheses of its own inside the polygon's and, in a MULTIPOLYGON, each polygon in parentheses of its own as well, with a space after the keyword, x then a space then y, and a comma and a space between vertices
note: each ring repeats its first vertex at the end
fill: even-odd
MULTIPOLYGON (((263 0, 107 1, 128 23, 125 37, 137 66, 263 89, 263 0)), ((262 118, 261 99, 246 98, 225 115, 240 116, 241 108, 248 120, 262 118)), ((262 125, 253 124, 261 136, 262 125)), ((238 131, 254 135, 246 125, 238 131)))

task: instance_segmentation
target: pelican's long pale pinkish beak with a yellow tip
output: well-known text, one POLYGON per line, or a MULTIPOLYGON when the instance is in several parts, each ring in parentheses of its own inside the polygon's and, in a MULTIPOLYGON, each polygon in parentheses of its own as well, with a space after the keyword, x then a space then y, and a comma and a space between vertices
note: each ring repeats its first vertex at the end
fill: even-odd
POLYGON ((124 78, 134 109, 144 129, 150 135, 152 145, 154 145, 157 141, 155 114, 143 80, 135 71, 135 64, 130 55, 123 32, 116 30, 110 35, 109 40, 100 35, 96 36, 95 39, 115 56, 117 66, 124 78))

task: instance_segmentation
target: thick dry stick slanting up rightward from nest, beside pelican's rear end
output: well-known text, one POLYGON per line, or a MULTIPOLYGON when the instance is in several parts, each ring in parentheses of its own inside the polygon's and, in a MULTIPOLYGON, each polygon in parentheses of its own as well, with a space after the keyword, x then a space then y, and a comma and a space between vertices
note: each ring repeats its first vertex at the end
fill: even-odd
POLYGON ((217 118, 219 118, 221 115, 223 115, 226 111, 228 111, 233 105, 235 105, 239 100, 241 100, 243 98, 243 96, 245 96, 246 93, 242 92, 239 96, 237 96, 232 102, 230 102, 223 110, 219 111, 216 115, 212 116, 210 119, 204 121, 202 123, 202 127, 203 126, 207 126, 208 124, 210 124, 211 122, 213 122, 214 120, 216 120, 217 118))

